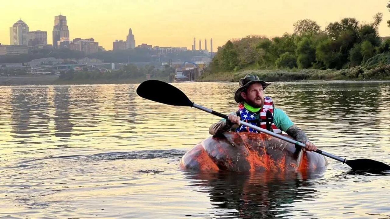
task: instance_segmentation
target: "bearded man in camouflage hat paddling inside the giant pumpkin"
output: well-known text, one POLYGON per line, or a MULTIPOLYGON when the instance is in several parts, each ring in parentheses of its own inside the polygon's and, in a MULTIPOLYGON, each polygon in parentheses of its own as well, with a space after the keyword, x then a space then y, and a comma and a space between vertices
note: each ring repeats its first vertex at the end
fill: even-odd
POLYGON ((239 110, 229 114, 227 120, 211 125, 209 132, 220 135, 227 131, 257 132, 240 124, 240 119, 275 133, 286 132, 289 136, 306 145, 306 150, 316 151, 317 147, 309 141, 305 132, 290 120, 282 109, 275 108, 271 97, 264 97, 263 90, 269 84, 259 77, 248 74, 239 81, 239 88, 234 100, 239 103, 239 110))

